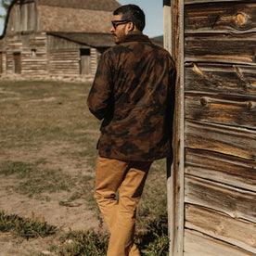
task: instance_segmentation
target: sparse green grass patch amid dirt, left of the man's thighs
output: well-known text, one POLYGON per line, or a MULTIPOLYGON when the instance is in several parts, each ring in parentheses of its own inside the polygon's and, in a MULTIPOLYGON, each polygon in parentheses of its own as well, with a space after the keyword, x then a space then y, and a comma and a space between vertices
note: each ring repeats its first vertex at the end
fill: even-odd
POLYGON ((4 161, 0 164, 0 175, 16 175, 18 182, 15 186, 7 186, 15 192, 29 198, 50 200, 51 193, 67 191, 72 193, 67 201, 60 201, 63 206, 78 206, 72 204, 78 198, 93 198, 94 179, 88 175, 71 176, 60 169, 45 169, 45 160, 35 162, 4 161), (40 167, 39 167, 40 165, 40 167), (47 196, 43 195, 47 193, 47 196), (90 196, 89 196, 90 195, 90 196))

